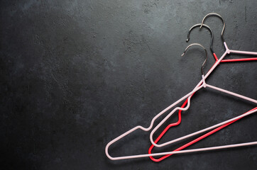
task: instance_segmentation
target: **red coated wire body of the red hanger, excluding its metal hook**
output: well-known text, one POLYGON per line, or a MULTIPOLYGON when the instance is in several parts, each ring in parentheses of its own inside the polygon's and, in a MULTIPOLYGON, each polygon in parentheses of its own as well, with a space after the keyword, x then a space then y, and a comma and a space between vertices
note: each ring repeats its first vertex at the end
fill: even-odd
MULTIPOLYGON (((213 53, 213 55, 214 55, 214 58, 215 58, 215 60, 216 60, 216 62, 217 62, 217 60, 218 60, 217 55, 216 55, 215 53, 213 53)), ((254 58, 251 58, 251 59, 254 59, 254 58)), ((224 60, 224 62, 237 62, 237 61, 240 61, 240 60, 241 60, 241 61, 248 61, 248 59, 236 59, 236 60, 233 60, 233 61, 231 61, 231 60, 224 60)), ((256 58, 256 60, 257 60, 257 58, 256 58)), ((194 93, 194 94, 195 94, 195 93, 194 93)), ((192 96, 193 96, 194 94, 192 94, 192 96)), ((184 107, 186 106, 187 101, 188 101, 188 99, 182 104, 181 108, 184 108, 184 107)), ((256 109, 257 109, 257 107, 256 107, 256 108, 253 108, 251 111, 256 110, 256 109)), ((165 134, 165 132, 167 132, 171 127, 180 125, 180 123, 181 123, 181 112, 182 112, 181 110, 178 112, 178 120, 177 120, 177 122, 176 122, 176 123, 171 123, 170 125, 168 125, 168 126, 163 130, 163 132, 161 132, 160 135, 157 137, 157 139, 155 140, 155 143, 157 143, 157 142, 163 137, 163 135, 165 134)), ((248 112, 249 112, 249 111, 248 111, 248 112)), ((246 113, 247 113, 247 112, 246 112, 246 113)), ((244 113, 244 114, 245 114, 245 113, 244 113)), ((239 118, 239 119, 241 119, 241 118, 239 118)), ((174 151, 179 151, 179 150, 181 150, 181 149, 184 149, 185 147, 189 147, 190 145, 194 144, 195 142, 198 142, 199 140, 202 140, 202 139, 204 139, 205 137, 207 137, 207 136, 209 136, 209 135, 212 135, 214 132, 217 132, 217 131, 219 131, 219 130, 222 130, 222 129, 225 128, 226 126, 230 125, 231 123, 236 122, 236 121, 239 120, 239 119, 236 119, 236 120, 233 120, 233 121, 231 121, 231 122, 229 122, 229 123, 226 123, 226 124, 224 124, 224 125, 221 125, 220 127, 216 128, 216 129, 214 129, 214 130, 212 130, 212 131, 210 131, 210 132, 207 132, 206 134, 202 135, 201 137, 198 137, 197 139, 192 140, 191 142, 188 142, 187 144, 183 145, 182 147, 179 147, 179 148, 175 149, 174 151)), ((151 145, 151 147, 148 149, 148 154, 151 154, 153 147, 154 147, 154 145, 151 145)), ((159 159, 155 159, 154 157, 150 157, 150 159, 151 159, 153 162, 160 162, 160 161, 162 161, 163 159, 165 159, 165 158, 167 158, 167 157, 170 157, 171 155, 172 155, 172 154, 166 154, 165 156, 160 157, 159 159)))

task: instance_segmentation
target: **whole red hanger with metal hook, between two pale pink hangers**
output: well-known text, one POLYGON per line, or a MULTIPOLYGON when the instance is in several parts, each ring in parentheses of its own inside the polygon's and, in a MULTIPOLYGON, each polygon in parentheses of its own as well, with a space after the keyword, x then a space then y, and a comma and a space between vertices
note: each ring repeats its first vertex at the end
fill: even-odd
MULTIPOLYGON (((224 21, 223 18, 222 18, 222 21, 224 21)), ((212 49, 213 33, 212 33, 211 28, 209 28, 209 26, 204 25, 204 24, 202 25, 202 23, 199 23, 199 24, 196 24, 195 26, 192 26, 192 28, 190 28, 190 30, 189 30, 188 33, 187 33, 187 40, 186 40, 186 42, 188 42, 188 41, 190 40, 190 33, 191 33, 191 31, 192 31, 194 28, 198 27, 198 26, 201 26, 201 28, 202 28, 202 26, 204 26, 205 28, 208 28, 208 30, 210 31, 210 33, 211 33, 211 35, 212 35, 212 36, 211 36, 211 42, 210 42, 210 50, 212 51, 212 54, 214 55, 214 58, 215 58, 215 60, 217 61, 217 55, 215 54, 214 50, 212 49)), ((224 28, 225 28, 225 24, 224 24, 224 28)), ((222 35, 223 35, 223 33, 224 33, 224 28, 223 28, 223 30, 222 30, 222 35)), ((222 40, 224 40, 223 36, 222 36, 222 40)), ((242 59, 242 60, 245 61, 245 59, 242 59)), ((226 62, 235 62, 235 60, 225 60, 225 61, 226 61, 226 62)), ((239 61, 239 60, 236 60, 236 62, 237 62, 237 61, 239 61)), ((193 96, 193 95, 194 95, 194 94, 192 94, 192 96, 193 96)), ((189 98, 191 98, 192 96, 190 96, 189 98)), ((181 108, 184 108, 186 104, 187 104, 187 100, 182 104, 181 108)), ((174 126, 177 126, 177 125, 180 125, 180 123, 181 123, 181 113, 182 113, 182 111, 180 110, 180 111, 178 112, 178 120, 177 120, 177 122, 176 122, 176 123, 171 123, 170 125, 168 125, 168 126, 163 130, 163 132, 161 132, 160 135, 156 138, 155 143, 157 143, 157 142, 163 137, 163 135, 164 135, 170 128, 172 128, 172 127, 174 127, 174 126)), ((239 119, 238 119, 238 120, 239 120, 239 119)), ((234 122, 236 122, 236 120, 232 121, 231 123, 234 123, 234 122)), ((222 128, 225 128, 226 126, 230 125, 231 123, 226 123, 225 125, 222 125, 221 127, 216 128, 215 130, 212 130, 211 132, 207 132, 207 134, 204 134, 204 135, 202 135, 201 137, 198 137, 196 140, 192 140, 191 142, 188 142, 187 144, 183 145, 182 147, 179 147, 179 148, 175 149, 174 151, 178 151, 178 150, 184 149, 185 147, 189 147, 190 145, 194 144, 195 142, 198 142, 199 140, 202 140, 202 139, 204 139, 205 137, 207 137, 207 136, 209 136, 209 135, 212 135, 214 132, 217 132, 217 131, 219 131, 219 130, 222 130, 222 128)), ((151 145, 151 147, 149 147, 149 149, 148 149, 148 154, 151 154, 151 151, 152 151, 153 147, 154 147, 154 145, 151 145)), ((150 159, 151 159, 153 162, 160 162, 160 161, 162 161, 163 159, 165 159, 165 158, 167 158, 167 157, 170 157, 171 155, 172 155, 172 154, 167 154, 167 155, 165 155, 165 156, 163 156, 163 157, 160 157, 160 158, 158 158, 158 159, 155 159, 155 158, 153 158, 153 157, 150 157, 150 159)))

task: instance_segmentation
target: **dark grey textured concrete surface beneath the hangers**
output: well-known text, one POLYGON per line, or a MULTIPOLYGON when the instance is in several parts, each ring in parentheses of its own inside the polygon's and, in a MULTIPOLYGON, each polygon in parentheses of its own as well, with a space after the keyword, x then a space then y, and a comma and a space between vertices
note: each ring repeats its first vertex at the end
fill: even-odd
MULTIPOLYGON (((136 125, 148 126, 154 115, 200 81, 202 50, 192 47, 185 57, 180 55, 189 45, 187 30, 207 13, 224 17, 229 48, 257 51, 256 0, 0 4, 0 164, 4 169, 256 169, 257 147, 180 154, 160 163, 148 158, 114 162, 104 154, 114 137, 136 125)), ((206 23, 214 31, 214 50, 220 57, 222 22, 214 17, 206 23)), ((207 30, 195 29, 190 42, 200 42, 209 50, 209 38, 207 30)), ((239 57, 245 56, 226 58, 239 57)), ((212 64, 209 52, 204 71, 212 64)), ((256 98, 256 72, 256 62, 223 63, 207 83, 256 98)), ((182 113, 181 125, 161 142, 254 106, 202 89, 182 113)), ((177 113, 168 123, 175 121, 177 113)), ((248 116, 188 149, 256 141, 256 121, 256 115, 248 116)), ((111 147, 111 155, 146 154, 151 145, 148 135, 135 132, 111 147)))

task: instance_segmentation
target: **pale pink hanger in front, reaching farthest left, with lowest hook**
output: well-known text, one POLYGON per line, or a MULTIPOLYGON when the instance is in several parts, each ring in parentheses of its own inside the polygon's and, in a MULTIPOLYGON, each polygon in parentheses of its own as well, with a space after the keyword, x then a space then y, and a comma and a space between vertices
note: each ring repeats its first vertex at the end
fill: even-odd
MULTIPOLYGON (((202 45, 200 45, 202 46, 202 45)), ((205 50, 205 49, 204 49, 205 50)), ((205 50, 206 51, 206 50, 205 50)), ((207 56, 207 55, 206 55, 207 56)), ((165 155, 165 154, 174 154, 174 153, 185 153, 185 152, 196 152, 197 150, 183 150, 183 151, 177 151, 177 152, 161 152, 161 153, 156 153, 156 154, 138 154, 138 155, 132 155, 132 156, 126 156, 126 157, 111 157, 109 155, 109 152, 108 152, 108 149, 109 147, 114 144, 114 142, 117 142, 118 140, 120 140, 121 138, 125 137, 126 135, 130 134, 131 132, 135 131, 135 130, 138 130, 138 129, 141 129, 143 131, 149 131, 151 130, 151 128, 153 128, 153 123, 155 122, 155 120, 160 116, 162 115, 163 113, 165 113, 166 111, 168 111, 170 108, 172 108, 173 106, 177 105, 177 103, 180 103, 180 101, 183 101, 185 98, 187 98, 188 96, 192 95, 193 93, 195 93, 195 91, 201 89, 203 86, 209 86, 210 88, 214 87, 214 86, 210 86, 210 85, 207 85, 205 84, 205 81, 204 79, 206 79, 209 74, 214 70, 215 67, 217 67, 217 64, 219 64, 219 62, 223 59, 223 57, 221 57, 215 64, 214 64, 214 67, 212 67, 212 69, 209 70, 209 72, 204 76, 204 74, 202 74, 202 80, 199 82, 199 84, 202 84, 202 82, 204 82, 200 87, 196 87, 194 91, 191 91, 189 94, 187 94, 186 96, 180 98, 180 100, 178 100, 177 102, 173 103, 172 105, 168 106, 168 108, 165 108, 165 110, 161 111, 160 113, 158 113, 158 115, 155 115, 155 117, 153 118, 153 120, 151 121, 151 125, 148 127, 148 128, 143 128, 142 126, 138 125, 136 126, 135 128, 132 128, 131 130, 128 130, 127 132, 125 132, 124 134, 120 135, 119 137, 116 137, 114 140, 111 140, 111 142, 109 142, 107 145, 106 145, 106 148, 105 148, 105 153, 106 153, 106 156, 111 159, 111 160, 119 160, 119 159, 132 159, 132 158, 139 158, 139 157, 150 157, 150 156, 158 156, 158 155, 165 155)), ((205 60, 206 61, 206 60, 205 60)), ((205 63, 204 61, 204 63, 205 63)), ((203 66, 202 66, 203 67, 203 66)), ((202 73, 203 73, 203 69, 202 69, 202 73)), ((199 84, 197 86, 199 86, 199 84)), ((217 88, 217 87, 214 87, 214 89, 217 88)), ((219 89, 219 88, 217 88, 219 89)), ((219 89, 219 90, 222 90, 223 92, 225 93, 228 93, 228 94, 232 94, 232 95, 238 95, 238 94, 234 94, 230 91, 226 91, 226 90, 223 90, 223 89, 219 89)), ((239 95, 239 97, 243 97, 243 98, 246 98, 244 96, 241 96, 239 95)), ((247 98, 247 99, 250 99, 250 101, 255 101, 251 98, 247 98)), ((257 103, 257 101, 255 101, 255 103, 257 103)), ((188 107, 190 106, 190 100, 188 100, 188 107)), ((187 107, 187 108, 188 108, 187 107)), ((180 108, 182 110, 186 110, 187 108, 180 108)), ((248 114, 251 114, 253 113, 254 111, 252 112, 249 112, 245 115, 240 115, 236 118, 242 118, 248 114)), ((168 116, 172 115, 173 113, 170 113, 168 116)), ((166 118, 168 117, 166 116, 166 118)), ((235 119, 235 118, 234 118, 235 119)), ((233 119, 229 120, 229 121, 232 121, 233 119)), ((224 122, 226 123, 226 122, 224 122)), ((227 145, 226 147, 240 147, 240 146, 246 146, 246 145, 256 145, 256 142, 248 142, 248 143, 245 143, 245 144, 238 144, 238 145, 227 145)), ((206 148, 206 149, 222 149, 224 148, 224 146, 219 146, 219 147, 209 147, 209 148, 206 148)), ((202 148, 202 149, 198 149, 198 151, 202 151, 203 149, 205 148, 202 148)))

